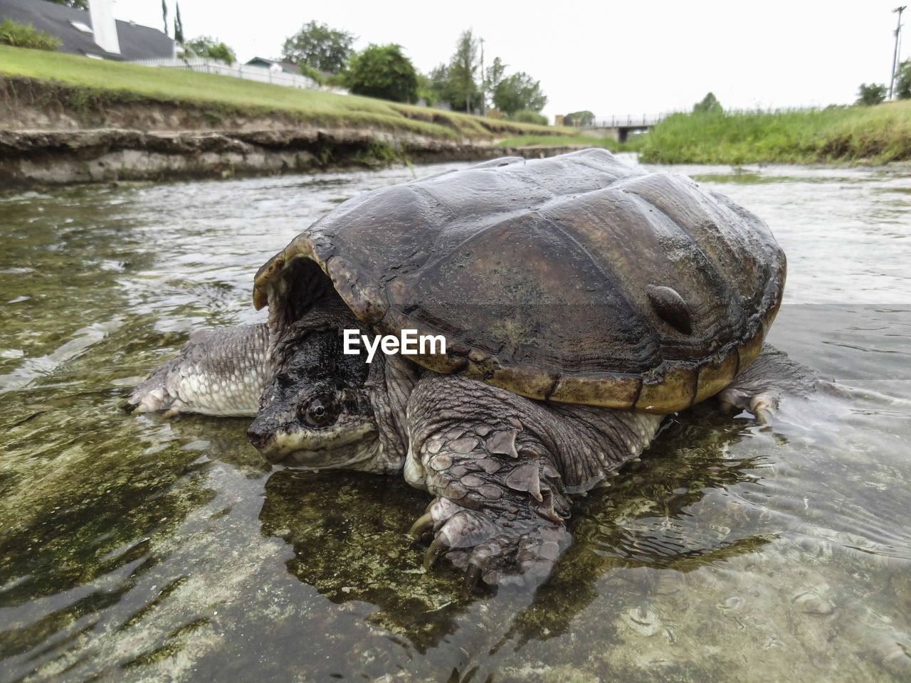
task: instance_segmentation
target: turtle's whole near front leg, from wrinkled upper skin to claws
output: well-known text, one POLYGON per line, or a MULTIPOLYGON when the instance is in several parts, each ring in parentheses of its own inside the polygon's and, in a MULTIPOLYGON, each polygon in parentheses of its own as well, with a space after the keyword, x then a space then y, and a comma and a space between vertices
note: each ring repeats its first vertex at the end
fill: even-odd
POLYGON ((408 402, 405 477, 436 496, 412 527, 479 580, 537 586, 569 545, 569 493, 639 454, 660 417, 551 406, 459 375, 427 374, 408 402))

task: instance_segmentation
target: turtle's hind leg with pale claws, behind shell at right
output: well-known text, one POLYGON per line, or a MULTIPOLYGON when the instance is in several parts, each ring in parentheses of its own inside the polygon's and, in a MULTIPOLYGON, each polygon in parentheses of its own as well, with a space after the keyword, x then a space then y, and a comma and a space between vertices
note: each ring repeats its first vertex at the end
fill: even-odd
POLYGON ((746 370, 737 375, 717 397, 722 410, 740 409, 752 413, 761 424, 770 423, 786 396, 807 397, 820 388, 819 376, 810 368, 788 358, 771 344, 746 370))

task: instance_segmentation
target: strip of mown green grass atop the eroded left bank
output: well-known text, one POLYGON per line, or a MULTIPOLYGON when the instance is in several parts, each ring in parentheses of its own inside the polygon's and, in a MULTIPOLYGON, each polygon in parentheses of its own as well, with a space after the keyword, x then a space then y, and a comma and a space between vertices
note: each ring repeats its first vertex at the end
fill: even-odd
POLYGON ((67 104, 159 101, 196 107, 213 120, 281 112, 302 124, 403 130, 435 138, 490 139, 547 135, 560 129, 411 107, 371 97, 273 86, 231 76, 138 66, 83 56, 0 46, 0 75, 67 90, 67 104))

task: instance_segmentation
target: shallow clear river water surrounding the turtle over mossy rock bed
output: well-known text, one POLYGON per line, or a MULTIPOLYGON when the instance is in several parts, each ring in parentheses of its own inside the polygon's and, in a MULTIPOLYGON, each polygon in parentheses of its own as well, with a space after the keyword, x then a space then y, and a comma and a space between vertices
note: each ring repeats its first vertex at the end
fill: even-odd
MULTIPOLYGON (((416 168, 426 175, 446 167, 416 168)), ((118 410, 257 267, 407 169, 0 196, 0 679, 911 678, 911 173, 677 167, 788 254, 771 341, 841 391, 699 406, 578 502, 535 595, 455 601, 399 477, 118 410)))

